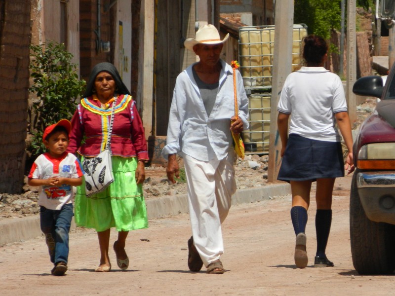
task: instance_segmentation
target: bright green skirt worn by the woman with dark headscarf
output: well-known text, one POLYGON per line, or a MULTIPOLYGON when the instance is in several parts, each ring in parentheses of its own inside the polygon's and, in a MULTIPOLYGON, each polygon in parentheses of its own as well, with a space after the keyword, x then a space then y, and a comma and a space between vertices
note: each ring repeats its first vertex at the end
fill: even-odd
POLYGON ((112 156, 112 163, 114 182, 105 190, 86 197, 85 182, 77 187, 76 224, 96 231, 111 227, 116 227, 117 231, 147 228, 143 186, 137 185, 134 176, 137 158, 112 156))

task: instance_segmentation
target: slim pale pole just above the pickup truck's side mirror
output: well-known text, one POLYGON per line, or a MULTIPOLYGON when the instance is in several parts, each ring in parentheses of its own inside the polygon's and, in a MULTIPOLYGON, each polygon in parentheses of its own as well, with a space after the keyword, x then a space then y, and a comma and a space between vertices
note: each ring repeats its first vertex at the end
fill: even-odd
POLYGON ((347 106, 351 124, 356 121, 356 95, 353 85, 356 81, 356 0, 348 0, 347 9, 347 106))

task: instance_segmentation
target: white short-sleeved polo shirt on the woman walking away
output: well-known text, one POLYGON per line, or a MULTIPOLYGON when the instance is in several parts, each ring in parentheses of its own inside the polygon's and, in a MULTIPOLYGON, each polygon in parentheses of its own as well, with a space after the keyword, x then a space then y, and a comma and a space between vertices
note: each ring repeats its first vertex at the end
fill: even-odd
POLYGON ((334 113, 347 112, 342 81, 323 67, 302 67, 286 78, 277 111, 291 114, 289 134, 339 142, 334 113))

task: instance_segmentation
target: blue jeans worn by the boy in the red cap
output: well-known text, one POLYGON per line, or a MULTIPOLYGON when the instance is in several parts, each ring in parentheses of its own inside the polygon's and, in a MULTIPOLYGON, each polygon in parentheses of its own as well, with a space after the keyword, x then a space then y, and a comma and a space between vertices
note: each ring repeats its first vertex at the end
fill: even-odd
POLYGON ((69 231, 74 216, 73 204, 65 204, 60 210, 49 210, 40 206, 40 226, 45 235, 51 262, 63 261, 67 264, 69 258, 69 231))

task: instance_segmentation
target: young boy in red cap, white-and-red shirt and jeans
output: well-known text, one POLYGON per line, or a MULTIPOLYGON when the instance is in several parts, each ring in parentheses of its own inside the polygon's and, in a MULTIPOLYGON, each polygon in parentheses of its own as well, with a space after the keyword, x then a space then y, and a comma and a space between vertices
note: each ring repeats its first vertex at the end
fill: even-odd
POLYGON ((28 176, 30 186, 40 186, 40 226, 54 267, 52 275, 64 275, 69 257, 69 231, 73 214, 73 186, 82 183, 78 158, 66 152, 71 123, 62 119, 48 126, 42 137, 47 152, 37 157, 28 176))

